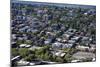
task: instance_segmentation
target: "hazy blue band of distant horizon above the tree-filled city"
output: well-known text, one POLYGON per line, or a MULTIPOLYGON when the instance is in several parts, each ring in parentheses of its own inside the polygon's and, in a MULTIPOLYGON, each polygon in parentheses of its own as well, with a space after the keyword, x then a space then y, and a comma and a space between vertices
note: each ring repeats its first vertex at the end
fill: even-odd
POLYGON ((96 9, 94 5, 78 5, 78 4, 65 4, 65 3, 47 3, 47 2, 34 2, 34 1, 17 1, 12 0, 11 3, 22 3, 22 4, 31 4, 31 5, 49 5, 49 6, 59 6, 59 7, 71 7, 71 8, 93 8, 96 9))

